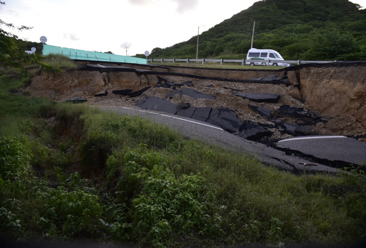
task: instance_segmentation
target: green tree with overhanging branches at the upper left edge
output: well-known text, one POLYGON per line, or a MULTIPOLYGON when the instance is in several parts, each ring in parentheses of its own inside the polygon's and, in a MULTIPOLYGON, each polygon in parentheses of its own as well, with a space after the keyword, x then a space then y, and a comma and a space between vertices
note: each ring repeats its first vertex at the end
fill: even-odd
MULTIPOLYGON (((1 5, 5 2, 0 1, 1 5)), ((0 26, 17 29, 19 31, 29 30, 33 27, 20 26, 15 27, 12 23, 6 23, 0 19, 0 26)), ((25 68, 25 64, 38 64, 45 69, 60 72, 60 69, 54 69, 42 61, 42 57, 38 54, 27 54, 20 49, 21 45, 18 41, 18 36, 3 30, 0 27, 0 65, 7 70, 28 76, 29 72, 25 68)))

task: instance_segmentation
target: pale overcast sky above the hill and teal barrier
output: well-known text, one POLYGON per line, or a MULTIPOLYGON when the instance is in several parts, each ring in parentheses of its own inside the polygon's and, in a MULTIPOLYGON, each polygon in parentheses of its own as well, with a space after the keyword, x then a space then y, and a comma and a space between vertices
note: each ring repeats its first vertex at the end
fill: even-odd
MULTIPOLYGON (((257 0, 2 0, 0 19, 34 27, 19 38, 127 55, 187 41, 257 0)), ((366 7, 366 0, 352 0, 366 7)), ((248 20, 249 21, 249 20, 248 20)), ((262 22, 264 20, 261 20, 262 22)), ((6 29, 4 26, 1 28, 6 29)))

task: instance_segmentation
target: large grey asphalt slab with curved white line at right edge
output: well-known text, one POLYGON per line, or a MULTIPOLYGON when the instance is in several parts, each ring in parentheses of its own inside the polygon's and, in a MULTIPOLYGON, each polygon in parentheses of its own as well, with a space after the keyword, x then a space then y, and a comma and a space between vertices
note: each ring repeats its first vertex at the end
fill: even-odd
POLYGON ((278 148, 299 153, 332 167, 350 167, 366 162, 366 144, 344 136, 303 136, 276 143, 278 148))

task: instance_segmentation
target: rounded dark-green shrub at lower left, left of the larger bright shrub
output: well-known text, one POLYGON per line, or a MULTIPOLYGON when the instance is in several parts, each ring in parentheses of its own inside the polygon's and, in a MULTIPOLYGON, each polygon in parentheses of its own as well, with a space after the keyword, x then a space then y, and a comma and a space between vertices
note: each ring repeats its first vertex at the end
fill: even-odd
POLYGON ((44 215, 37 225, 48 237, 90 236, 100 226, 102 207, 99 197, 89 188, 89 182, 80 178, 78 173, 71 174, 61 181, 57 188, 44 188, 37 192, 38 201, 44 202, 44 215))

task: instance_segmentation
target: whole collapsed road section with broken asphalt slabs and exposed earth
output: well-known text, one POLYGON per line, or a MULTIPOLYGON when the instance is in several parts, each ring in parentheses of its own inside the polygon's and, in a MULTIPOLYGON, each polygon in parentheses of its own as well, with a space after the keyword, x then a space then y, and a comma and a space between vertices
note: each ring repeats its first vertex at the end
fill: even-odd
POLYGON ((366 161, 366 64, 282 70, 128 66, 42 72, 29 89, 59 102, 87 101, 149 117, 187 137, 244 150, 289 171, 334 172, 366 161), (340 72, 348 74, 342 79, 340 72), (220 73, 232 78, 217 77, 220 73))

